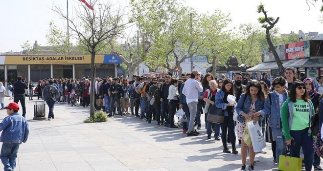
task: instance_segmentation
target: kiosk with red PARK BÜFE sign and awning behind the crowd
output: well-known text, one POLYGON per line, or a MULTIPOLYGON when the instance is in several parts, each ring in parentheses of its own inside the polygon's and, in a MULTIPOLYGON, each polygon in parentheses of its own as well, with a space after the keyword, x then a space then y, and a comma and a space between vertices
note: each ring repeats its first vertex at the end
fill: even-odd
MULTIPOLYGON (((323 74, 323 42, 303 41, 275 47, 284 68, 294 67, 313 80, 323 74)), ((270 71, 271 80, 279 76, 278 65, 269 47, 262 48, 262 63, 247 69, 248 72, 270 71)), ((260 72, 261 73, 261 72, 260 72)))

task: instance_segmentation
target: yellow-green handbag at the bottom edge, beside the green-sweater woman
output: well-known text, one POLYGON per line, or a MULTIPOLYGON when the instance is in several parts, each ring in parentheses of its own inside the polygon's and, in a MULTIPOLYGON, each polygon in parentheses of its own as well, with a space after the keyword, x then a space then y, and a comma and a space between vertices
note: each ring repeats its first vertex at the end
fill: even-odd
MULTIPOLYGON (((287 146, 287 150, 289 150, 289 146, 287 146)), ((299 157, 287 156, 287 152, 285 155, 279 155, 279 164, 278 170, 280 171, 301 171, 301 161, 302 159, 299 157)))

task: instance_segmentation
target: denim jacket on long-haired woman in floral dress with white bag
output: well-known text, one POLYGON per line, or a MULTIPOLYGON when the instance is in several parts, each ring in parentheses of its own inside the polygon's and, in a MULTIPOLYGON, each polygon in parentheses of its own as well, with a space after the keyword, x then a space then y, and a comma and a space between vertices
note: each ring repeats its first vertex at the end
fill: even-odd
MULTIPOLYGON (((254 105, 255 112, 260 112, 260 114, 261 114, 260 115, 260 120, 262 120, 262 118, 265 116, 265 112, 262 111, 262 109, 264 108, 264 103, 265 103, 265 101, 257 98, 257 101, 255 102, 255 105, 254 105)), ((240 99, 238 101, 238 104, 237 104, 237 107, 235 108, 235 110, 237 111, 237 113, 239 115, 241 115, 242 113, 247 113, 248 114, 250 106, 251 106, 251 97, 250 97, 250 95, 246 95, 245 93, 243 93, 240 96, 240 99)))

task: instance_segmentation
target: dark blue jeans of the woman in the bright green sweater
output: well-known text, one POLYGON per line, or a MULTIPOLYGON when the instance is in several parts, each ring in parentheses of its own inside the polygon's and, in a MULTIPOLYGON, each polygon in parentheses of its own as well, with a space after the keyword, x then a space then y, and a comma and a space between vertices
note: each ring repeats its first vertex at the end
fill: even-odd
POLYGON ((296 141, 294 146, 290 147, 292 157, 300 157, 300 147, 304 154, 304 164, 306 171, 312 171, 314 161, 313 139, 308 136, 308 128, 303 130, 291 130, 290 134, 296 141))

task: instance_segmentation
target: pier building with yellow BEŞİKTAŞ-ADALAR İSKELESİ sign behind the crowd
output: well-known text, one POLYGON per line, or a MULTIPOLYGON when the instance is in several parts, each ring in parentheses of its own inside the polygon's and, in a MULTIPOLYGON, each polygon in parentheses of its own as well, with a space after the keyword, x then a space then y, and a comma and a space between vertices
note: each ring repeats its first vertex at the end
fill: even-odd
MULTIPOLYGON (((96 76, 116 76, 116 65, 122 64, 115 55, 95 55, 96 76)), ((0 82, 12 82, 17 76, 38 82, 44 78, 91 76, 91 55, 6 55, 0 56, 0 82)))

